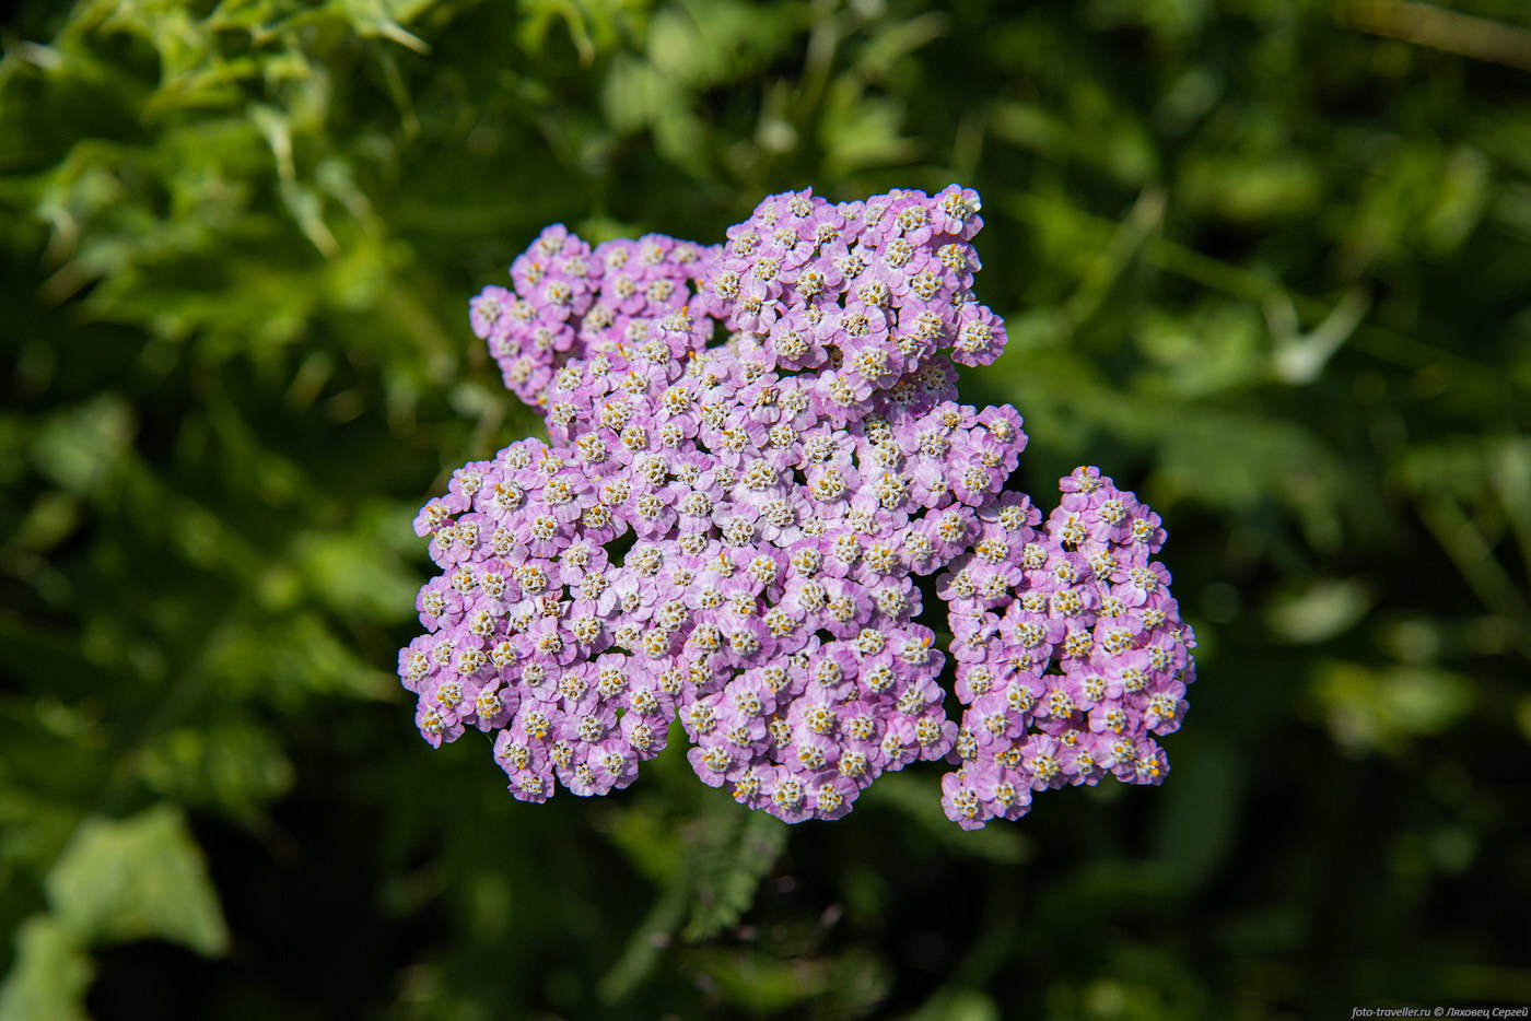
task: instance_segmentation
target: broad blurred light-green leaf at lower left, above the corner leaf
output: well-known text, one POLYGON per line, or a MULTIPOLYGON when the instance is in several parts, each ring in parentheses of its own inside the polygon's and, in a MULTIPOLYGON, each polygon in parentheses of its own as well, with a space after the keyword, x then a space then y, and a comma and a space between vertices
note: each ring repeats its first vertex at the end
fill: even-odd
POLYGON ((202 850, 173 805, 87 819, 46 886, 58 923, 81 940, 161 938, 205 957, 228 951, 202 850))

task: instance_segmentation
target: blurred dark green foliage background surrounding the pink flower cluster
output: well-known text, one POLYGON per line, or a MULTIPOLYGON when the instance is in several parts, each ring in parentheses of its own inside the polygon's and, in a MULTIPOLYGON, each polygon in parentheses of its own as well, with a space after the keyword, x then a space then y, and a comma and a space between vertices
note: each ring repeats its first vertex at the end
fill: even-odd
POLYGON ((1531 1003, 1522 0, 3 17, 0 1019, 1531 1003), (468 297, 554 220, 951 181, 1012 338, 968 398, 1170 528, 1168 782, 788 828, 674 744, 530 807, 421 742, 410 519, 536 427, 468 297))

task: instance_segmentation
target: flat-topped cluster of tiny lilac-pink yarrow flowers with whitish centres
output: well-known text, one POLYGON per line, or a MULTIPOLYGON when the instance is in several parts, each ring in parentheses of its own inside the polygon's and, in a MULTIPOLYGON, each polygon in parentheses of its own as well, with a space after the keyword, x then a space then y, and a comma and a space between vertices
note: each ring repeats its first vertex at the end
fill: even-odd
POLYGON ((464 465, 415 522, 441 566, 400 654, 426 741, 491 733, 540 802, 626 787, 678 715, 701 781, 785 822, 916 759, 955 767, 965 828, 1160 782, 1196 644, 1164 530, 1096 468, 1046 520, 1007 488, 1021 416, 955 387, 1006 341, 971 291, 978 208, 784 193, 710 248, 550 227, 473 298, 550 442, 464 465))

